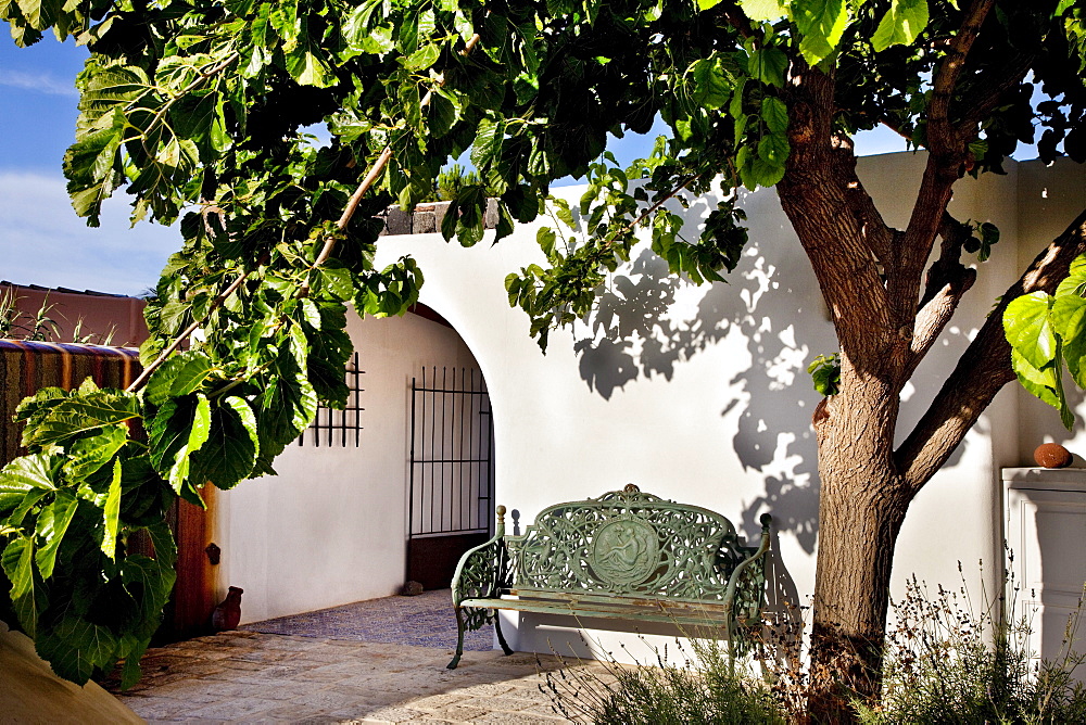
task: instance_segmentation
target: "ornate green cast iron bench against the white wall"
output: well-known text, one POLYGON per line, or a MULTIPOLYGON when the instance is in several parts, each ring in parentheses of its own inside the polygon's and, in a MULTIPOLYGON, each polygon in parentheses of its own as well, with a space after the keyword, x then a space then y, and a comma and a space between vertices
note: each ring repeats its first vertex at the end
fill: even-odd
MULTIPOLYGON (((724 517, 642 493, 632 483, 599 498, 544 509, 520 536, 495 535, 460 558, 453 576, 455 669, 464 633, 493 622, 506 654, 498 609, 543 614, 722 627, 732 641, 760 622, 765 555, 740 546, 724 517)), ((700 629, 699 629, 700 631, 700 629)))

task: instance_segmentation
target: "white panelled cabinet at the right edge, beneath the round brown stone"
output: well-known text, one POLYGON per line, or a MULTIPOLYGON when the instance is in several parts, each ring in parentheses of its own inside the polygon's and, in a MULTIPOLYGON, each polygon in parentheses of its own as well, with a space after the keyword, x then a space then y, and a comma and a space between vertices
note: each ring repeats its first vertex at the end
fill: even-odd
MULTIPOLYGON (((1086 469, 1006 468, 1003 489, 1018 613, 1033 614, 1032 648, 1053 659, 1086 584, 1086 469)), ((1086 651, 1086 615, 1075 649, 1086 651)))

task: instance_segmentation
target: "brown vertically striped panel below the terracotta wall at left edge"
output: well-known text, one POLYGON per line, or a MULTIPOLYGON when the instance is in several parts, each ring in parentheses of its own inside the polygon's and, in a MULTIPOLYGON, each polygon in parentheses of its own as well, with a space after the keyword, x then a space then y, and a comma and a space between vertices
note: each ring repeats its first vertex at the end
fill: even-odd
POLYGON ((24 397, 42 387, 72 390, 88 377, 99 387, 125 387, 140 369, 131 347, 0 340, 0 466, 23 453, 12 416, 24 397))

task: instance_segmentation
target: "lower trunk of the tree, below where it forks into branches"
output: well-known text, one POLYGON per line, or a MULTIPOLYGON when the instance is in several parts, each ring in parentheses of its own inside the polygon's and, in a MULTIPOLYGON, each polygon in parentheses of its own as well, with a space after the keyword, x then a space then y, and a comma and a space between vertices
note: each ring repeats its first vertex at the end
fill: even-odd
POLYGON ((879 695, 889 577, 910 496, 893 457, 898 391, 843 365, 842 393, 816 422, 819 545, 810 714, 853 720, 849 699, 879 695))

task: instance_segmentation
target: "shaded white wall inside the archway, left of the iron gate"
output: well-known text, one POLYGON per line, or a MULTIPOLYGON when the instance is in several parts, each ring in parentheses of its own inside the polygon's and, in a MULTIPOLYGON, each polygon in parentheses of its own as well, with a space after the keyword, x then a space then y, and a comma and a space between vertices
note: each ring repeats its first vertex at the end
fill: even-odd
POLYGON ((394 594, 404 582, 411 381, 420 369, 478 368, 456 332, 417 315, 358 319, 361 447, 288 446, 278 476, 218 498, 217 586, 240 586, 242 622, 394 594))

